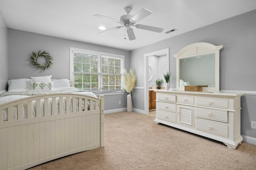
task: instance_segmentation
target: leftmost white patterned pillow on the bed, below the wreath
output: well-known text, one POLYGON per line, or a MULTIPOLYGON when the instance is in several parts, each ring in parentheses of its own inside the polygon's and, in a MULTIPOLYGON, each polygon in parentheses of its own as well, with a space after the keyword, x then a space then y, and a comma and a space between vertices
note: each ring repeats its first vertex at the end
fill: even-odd
MULTIPOLYGON (((20 79, 13 79, 13 80, 8 80, 8 91, 18 91, 18 89, 23 89, 23 90, 30 90, 32 88, 31 86, 31 81, 32 79, 29 78, 20 78, 20 79)), ((22 91, 23 91, 22 90, 22 91)), ((21 90, 19 90, 21 91, 21 90)))

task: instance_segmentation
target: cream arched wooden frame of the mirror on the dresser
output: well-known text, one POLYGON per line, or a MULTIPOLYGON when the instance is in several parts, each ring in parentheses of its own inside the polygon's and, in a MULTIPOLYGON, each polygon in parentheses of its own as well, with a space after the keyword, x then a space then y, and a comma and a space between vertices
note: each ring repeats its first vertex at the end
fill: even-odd
POLYGON ((215 53, 215 87, 203 87, 202 91, 220 92, 220 49, 222 47, 223 45, 216 46, 210 43, 193 43, 173 55, 176 58, 176 89, 184 91, 184 87, 180 87, 180 59, 215 53))

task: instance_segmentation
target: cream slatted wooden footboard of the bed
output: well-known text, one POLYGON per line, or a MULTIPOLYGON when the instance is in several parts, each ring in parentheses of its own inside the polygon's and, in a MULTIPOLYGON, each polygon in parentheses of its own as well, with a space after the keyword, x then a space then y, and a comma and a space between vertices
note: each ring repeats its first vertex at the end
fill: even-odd
POLYGON ((31 96, 0 105, 0 169, 24 170, 56 158, 77 152, 104 146, 104 96, 100 99, 81 94, 46 94, 31 96), (44 109, 40 115, 40 100, 44 100, 44 108, 52 98, 52 114, 44 109), (72 100, 73 109, 69 113, 70 103, 66 104, 66 112, 59 107, 56 114, 56 98, 60 106, 66 99, 72 100), (82 100, 90 102, 90 109, 82 110, 82 100), (32 117, 32 101, 36 101, 36 117, 32 117), (93 108, 95 102, 95 109, 93 108), (23 119, 22 106, 27 104, 28 118, 23 119), (18 107, 18 119, 14 120, 13 107, 18 107), (99 106, 99 107, 97 107, 99 106), (4 109, 8 109, 8 121, 4 121, 4 109))

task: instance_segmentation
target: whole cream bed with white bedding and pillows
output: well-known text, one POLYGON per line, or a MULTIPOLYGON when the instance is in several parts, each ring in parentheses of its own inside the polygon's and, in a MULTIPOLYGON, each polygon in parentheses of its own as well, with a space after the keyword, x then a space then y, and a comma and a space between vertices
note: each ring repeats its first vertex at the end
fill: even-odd
POLYGON ((50 78, 9 80, 8 92, 0 94, 1 170, 104 146, 104 96, 50 78))

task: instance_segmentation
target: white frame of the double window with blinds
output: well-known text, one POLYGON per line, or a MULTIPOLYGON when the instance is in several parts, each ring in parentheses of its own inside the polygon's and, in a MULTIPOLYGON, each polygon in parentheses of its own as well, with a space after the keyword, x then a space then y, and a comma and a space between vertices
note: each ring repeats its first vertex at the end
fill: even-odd
MULTIPOLYGON (((70 80, 74 82, 74 59, 73 59, 73 52, 81 52, 81 53, 87 53, 91 55, 98 55, 100 56, 100 91, 94 92, 95 94, 104 94, 104 95, 116 95, 116 94, 124 94, 124 89, 121 86, 120 91, 110 91, 110 92, 102 92, 102 71, 101 71, 101 56, 109 56, 109 57, 116 57, 116 58, 121 58, 122 59, 122 70, 124 70, 124 55, 117 55, 117 54, 111 54, 111 53, 103 53, 103 52, 98 52, 98 51, 91 51, 91 50, 86 50, 86 49, 78 49, 78 48, 73 48, 70 47, 70 80)), ((121 72, 123 74, 123 72, 121 72)), ((122 78, 121 78, 121 84, 122 84, 122 78)))

